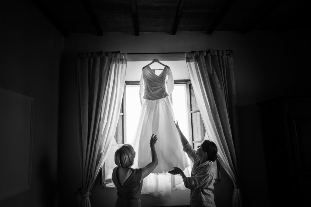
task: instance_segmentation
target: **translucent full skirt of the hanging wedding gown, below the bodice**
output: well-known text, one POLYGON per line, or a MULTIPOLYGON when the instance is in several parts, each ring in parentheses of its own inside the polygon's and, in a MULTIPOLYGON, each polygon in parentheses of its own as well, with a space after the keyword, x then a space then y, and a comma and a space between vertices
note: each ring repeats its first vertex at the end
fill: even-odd
POLYGON ((142 110, 132 146, 136 151, 133 167, 145 167, 151 162, 150 138, 156 134, 155 145, 158 165, 153 172, 143 180, 142 194, 164 196, 170 198, 171 189, 184 190, 180 175, 167 173, 174 167, 182 169, 190 176, 190 160, 183 151, 179 133, 174 124, 174 113, 170 97, 158 100, 142 101, 142 110))

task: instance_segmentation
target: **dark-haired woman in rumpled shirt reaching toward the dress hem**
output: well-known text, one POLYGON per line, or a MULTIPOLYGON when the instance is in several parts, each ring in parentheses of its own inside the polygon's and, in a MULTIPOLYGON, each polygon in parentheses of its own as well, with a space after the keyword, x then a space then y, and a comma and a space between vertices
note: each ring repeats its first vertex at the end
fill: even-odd
POLYGON ((193 162, 193 168, 191 177, 186 177, 180 168, 174 168, 169 173, 182 176, 185 187, 191 190, 190 205, 192 207, 215 207, 212 191, 214 190, 216 169, 212 162, 217 159, 217 146, 214 142, 204 140, 198 146, 197 151, 195 151, 181 132, 177 121, 175 124, 183 145, 183 151, 188 154, 188 157, 193 162))

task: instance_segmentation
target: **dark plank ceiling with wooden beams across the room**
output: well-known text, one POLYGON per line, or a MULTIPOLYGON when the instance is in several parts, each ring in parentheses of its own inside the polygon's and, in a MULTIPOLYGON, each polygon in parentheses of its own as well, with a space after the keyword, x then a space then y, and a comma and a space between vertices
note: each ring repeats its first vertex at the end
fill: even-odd
POLYGON ((64 35, 309 30, 310 0, 32 0, 64 35))

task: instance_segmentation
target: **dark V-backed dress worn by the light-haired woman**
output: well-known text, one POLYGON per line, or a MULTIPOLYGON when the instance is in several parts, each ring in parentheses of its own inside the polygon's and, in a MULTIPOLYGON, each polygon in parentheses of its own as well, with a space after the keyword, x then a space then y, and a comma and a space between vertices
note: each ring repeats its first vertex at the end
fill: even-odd
POLYGON ((132 173, 124 181, 121 186, 117 175, 118 167, 115 167, 112 172, 112 181, 117 188, 117 202, 116 207, 140 207, 141 206, 141 191, 142 191, 142 169, 130 169, 132 173))

